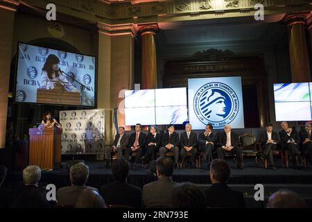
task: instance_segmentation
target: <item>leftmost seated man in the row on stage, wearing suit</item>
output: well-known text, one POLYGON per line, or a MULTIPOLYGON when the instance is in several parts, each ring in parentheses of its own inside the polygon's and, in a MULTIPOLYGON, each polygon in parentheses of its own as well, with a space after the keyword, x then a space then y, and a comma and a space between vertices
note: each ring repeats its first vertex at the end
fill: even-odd
POLYGON ((129 143, 129 135, 125 133, 125 128, 120 126, 118 128, 118 134, 115 136, 112 147, 105 150, 106 168, 110 167, 110 159, 112 158, 112 153, 117 152, 117 160, 123 157, 123 152, 127 148, 129 143))

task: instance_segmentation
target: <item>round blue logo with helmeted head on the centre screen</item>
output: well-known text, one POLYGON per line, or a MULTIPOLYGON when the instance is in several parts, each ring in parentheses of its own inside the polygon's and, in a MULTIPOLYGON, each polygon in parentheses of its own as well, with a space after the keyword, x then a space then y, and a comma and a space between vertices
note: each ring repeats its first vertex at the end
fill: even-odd
POLYGON ((207 83, 200 87, 193 99, 196 117, 204 124, 223 127, 231 123, 239 112, 239 99, 224 83, 207 83))

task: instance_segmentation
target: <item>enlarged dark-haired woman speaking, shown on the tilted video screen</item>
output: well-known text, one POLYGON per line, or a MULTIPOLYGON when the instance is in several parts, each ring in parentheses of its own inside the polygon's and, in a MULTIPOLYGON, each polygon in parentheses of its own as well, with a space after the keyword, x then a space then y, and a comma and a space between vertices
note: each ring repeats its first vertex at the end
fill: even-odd
POLYGON ((54 54, 50 54, 46 58, 44 67, 42 68, 42 79, 40 83, 40 89, 54 89, 55 84, 59 83, 64 86, 68 92, 78 92, 78 89, 69 83, 66 75, 62 74, 62 71, 58 67, 60 59, 54 54))

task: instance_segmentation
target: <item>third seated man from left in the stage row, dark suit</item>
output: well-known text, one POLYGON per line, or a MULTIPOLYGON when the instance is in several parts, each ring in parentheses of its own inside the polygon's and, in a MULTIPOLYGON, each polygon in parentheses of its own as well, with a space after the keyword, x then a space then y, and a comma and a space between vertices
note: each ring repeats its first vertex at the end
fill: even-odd
POLYGON ((161 135, 158 133, 157 126, 150 126, 150 133, 146 137, 146 151, 144 163, 148 164, 150 160, 155 160, 156 153, 159 151, 161 135))

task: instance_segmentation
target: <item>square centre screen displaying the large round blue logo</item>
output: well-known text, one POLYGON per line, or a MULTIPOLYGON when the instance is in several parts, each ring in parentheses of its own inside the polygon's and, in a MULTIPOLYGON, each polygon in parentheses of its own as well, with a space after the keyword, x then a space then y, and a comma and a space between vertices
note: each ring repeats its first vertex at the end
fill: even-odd
POLYGON ((189 122, 194 130, 230 124, 244 128, 241 77, 189 78, 189 122))

